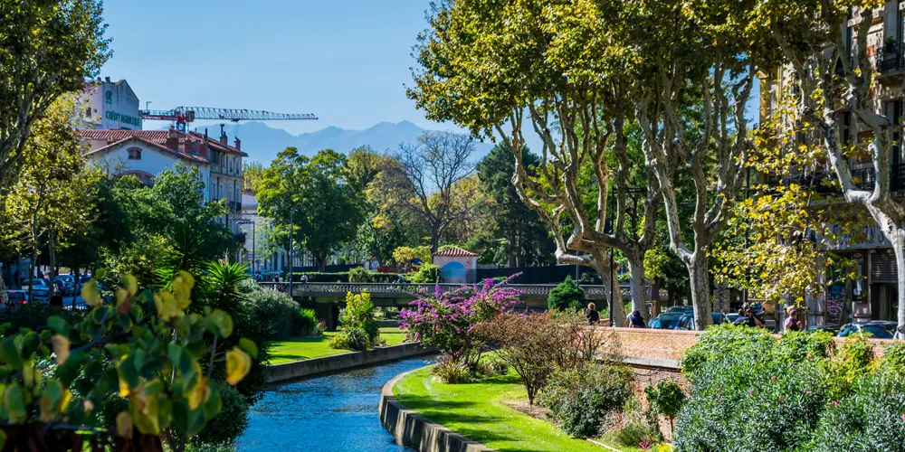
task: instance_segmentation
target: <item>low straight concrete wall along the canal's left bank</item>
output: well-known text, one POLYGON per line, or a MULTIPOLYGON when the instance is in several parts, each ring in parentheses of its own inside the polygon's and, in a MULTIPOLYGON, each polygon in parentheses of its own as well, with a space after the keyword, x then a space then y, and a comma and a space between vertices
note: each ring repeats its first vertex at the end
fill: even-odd
POLYGON ((264 381, 277 383, 280 381, 295 380, 320 373, 347 371, 357 367, 364 367, 403 358, 412 358, 433 350, 425 349, 421 343, 409 343, 392 345, 389 347, 377 347, 370 352, 352 352, 312 358, 310 360, 294 361, 292 363, 271 364, 267 366, 264 381))

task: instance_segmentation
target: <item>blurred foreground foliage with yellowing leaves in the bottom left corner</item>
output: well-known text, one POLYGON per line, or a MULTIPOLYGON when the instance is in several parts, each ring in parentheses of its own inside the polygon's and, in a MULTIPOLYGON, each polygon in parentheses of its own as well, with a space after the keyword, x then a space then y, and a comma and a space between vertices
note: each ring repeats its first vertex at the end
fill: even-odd
POLYGON ((193 288, 195 278, 186 272, 157 293, 139 290, 137 279, 127 277, 105 301, 92 281, 82 297, 93 308, 80 323, 52 315, 38 330, 5 334, 3 413, 10 425, 0 439, 29 449, 40 422, 51 428, 43 441, 54 450, 81 449, 77 430, 119 450, 162 450, 161 438, 182 450, 220 412, 220 384, 242 381, 257 354, 246 338, 217 346, 232 339, 233 320, 209 306, 193 312, 193 288), (222 372, 214 373, 223 359, 222 372), (52 369, 47 377, 44 368, 52 369), (108 429, 94 409, 115 393, 128 404, 108 429))

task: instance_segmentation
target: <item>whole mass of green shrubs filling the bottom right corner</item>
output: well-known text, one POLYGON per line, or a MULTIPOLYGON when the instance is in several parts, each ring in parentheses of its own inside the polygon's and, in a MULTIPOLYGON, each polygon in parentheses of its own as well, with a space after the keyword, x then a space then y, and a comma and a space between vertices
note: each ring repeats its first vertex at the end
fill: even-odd
POLYGON ((682 361, 691 391, 676 450, 897 450, 901 347, 878 360, 861 336, 836 348, 823 333, 711 328, 682 361))

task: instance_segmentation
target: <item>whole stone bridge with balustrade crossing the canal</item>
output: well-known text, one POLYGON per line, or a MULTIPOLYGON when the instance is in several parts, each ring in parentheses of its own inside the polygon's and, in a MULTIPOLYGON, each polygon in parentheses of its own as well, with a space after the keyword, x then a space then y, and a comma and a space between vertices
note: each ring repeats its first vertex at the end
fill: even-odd
MULTIPOLYGON (((282 292, 289 291, 288 282, 262 282, 262 287, 270 287, 282 292)), ((462 287, 461 284, 399 284, 399 283, 292 283, 291 296, 301 301, 303 298, 312 299, 316 305, 318 317, 327 322, 329 329, 336 327, 339 308, 346 305, 346 294, 371 294, 374 306, 403 307, 411 303, 417 294, 422 291, 433 293, 439 287, 441 291, 448 292, 462 287)), ((550 290, 557 287, 555 284, 510 284, 508 287, 518 289, 521 292, 519 299, 525 308, 547 308, 547 298, 550 290)), ((609 292, 604 286, 582 286, 588 301, 597 304, 604 302, 609 297, 609 292)))

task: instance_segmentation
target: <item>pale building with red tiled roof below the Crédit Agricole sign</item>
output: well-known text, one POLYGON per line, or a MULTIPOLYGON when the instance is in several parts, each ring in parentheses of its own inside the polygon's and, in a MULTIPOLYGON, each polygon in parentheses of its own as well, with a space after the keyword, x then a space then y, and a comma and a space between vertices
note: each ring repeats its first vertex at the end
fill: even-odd
POLYGON ((205 183, 205 200, 225 200, 229 212, 220 222, 238 231, 242 212, 242 158, 248 156, 239 138, 233 145, 221 132, 219 139, 205 134, 169 130, 84 129, 79 130, 85 155, 93 165, 119 168, 145 184, 176 164, 193 166, 205 183))

